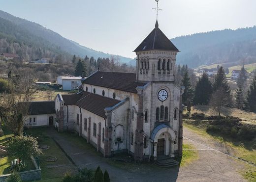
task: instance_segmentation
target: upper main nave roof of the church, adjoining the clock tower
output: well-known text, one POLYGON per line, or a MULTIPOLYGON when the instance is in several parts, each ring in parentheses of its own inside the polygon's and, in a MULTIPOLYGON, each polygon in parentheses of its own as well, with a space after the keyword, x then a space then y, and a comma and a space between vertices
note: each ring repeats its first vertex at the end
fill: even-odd
POLYGON ((96 85, 125 92, 137 93, 137 86, 144 86, 147 83, 136 82, 135 73, 100 72, 97 71, 86 78, 83 83, 96 85))

